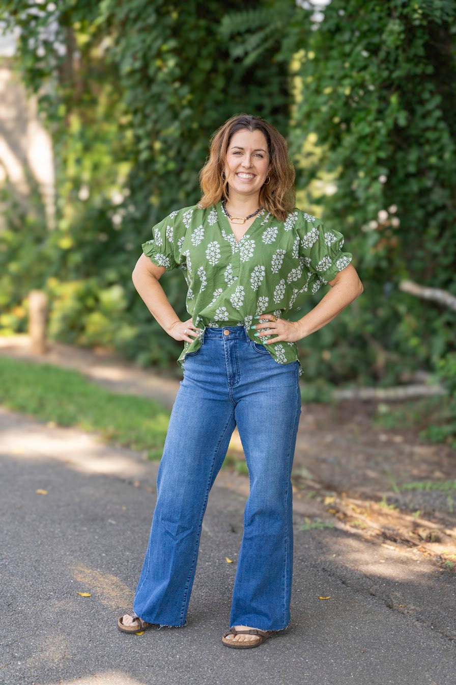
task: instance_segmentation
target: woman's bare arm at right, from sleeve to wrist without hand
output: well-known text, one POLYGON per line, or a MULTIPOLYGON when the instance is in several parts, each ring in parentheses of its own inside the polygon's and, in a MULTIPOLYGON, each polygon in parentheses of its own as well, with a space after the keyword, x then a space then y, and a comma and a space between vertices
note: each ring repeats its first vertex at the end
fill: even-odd
POLYGON ((306 338, 315 331, 323 328, 336 318, 345 307, 363 292, 362 282, 356 273, 356 269, 349 264, 336 275, 332 281, 328 281, 331 286, 325 297, 308 314, 296 321, 299 329, 299 336, 306 338))

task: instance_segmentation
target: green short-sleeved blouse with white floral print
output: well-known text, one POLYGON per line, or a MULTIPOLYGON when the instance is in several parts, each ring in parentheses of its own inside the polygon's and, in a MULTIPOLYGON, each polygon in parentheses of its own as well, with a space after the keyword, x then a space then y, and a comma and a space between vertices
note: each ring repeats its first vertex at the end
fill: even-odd
POLYGON ((327 229, 314 216, 293 210, 285 221, 262 210, 239 242, 219 202, 172 212, 152 229, 144 254, 167 271, 180 266, 188 286, 187 312, 201 333, 184 342, 178 357, 201 346, 204 327, 244 325, 258 348, 266 347, 278 364, 299 362, 296 343, 264 345, 274 336, 258 338, 251 328, 258 314, 275 314, 297 321, 306 312, 309 292, 331 281, 351 262, 342 252, 343 235, 327 229))

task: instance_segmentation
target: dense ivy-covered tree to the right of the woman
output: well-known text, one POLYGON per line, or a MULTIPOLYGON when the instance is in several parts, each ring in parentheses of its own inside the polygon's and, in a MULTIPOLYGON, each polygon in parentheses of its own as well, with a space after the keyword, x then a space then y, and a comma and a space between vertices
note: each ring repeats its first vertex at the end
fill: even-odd
POLYGON ((456 294, 456 3, 333 0, 315 28, 290 65, 300 200, 345 233, 365 292, 319 337, 334 367, 397 382, 454 349, 454 313, 399 284, 456 294))

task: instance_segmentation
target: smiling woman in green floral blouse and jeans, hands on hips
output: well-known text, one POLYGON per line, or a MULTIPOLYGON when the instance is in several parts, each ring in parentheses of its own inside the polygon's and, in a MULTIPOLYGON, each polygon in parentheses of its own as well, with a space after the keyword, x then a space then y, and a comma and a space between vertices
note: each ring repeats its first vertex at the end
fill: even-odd
POLYGON ((302 373, 296 341, 332 321, 363 288, 342 234, 294 208, 284 138, 241 115, 215 134, 200 203, 155 226, 133 282, 155 319, 183 340, 184 377, 157 476, 157 505, 124 632, 186 625, 209 490, 237 426, 250 475, 228 647, 262 644, 290 621, 291 466, 302 373), (180 321, 159 284, 183 269, 180 321), (309 292, 331 289, 299 318, 309 292), (293 321, 292 319, 296 319, 293 321))

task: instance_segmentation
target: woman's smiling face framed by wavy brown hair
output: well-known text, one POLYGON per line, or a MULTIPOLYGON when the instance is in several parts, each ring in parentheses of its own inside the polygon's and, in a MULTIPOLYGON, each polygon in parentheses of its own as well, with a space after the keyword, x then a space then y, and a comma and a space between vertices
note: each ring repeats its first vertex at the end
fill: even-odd
POLYGON ((267 140, 261 131, 237 131, 226 151, 226 180, 232 191, 241 195, 255 195, 260 192, 269 171, 267 140))

